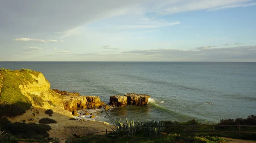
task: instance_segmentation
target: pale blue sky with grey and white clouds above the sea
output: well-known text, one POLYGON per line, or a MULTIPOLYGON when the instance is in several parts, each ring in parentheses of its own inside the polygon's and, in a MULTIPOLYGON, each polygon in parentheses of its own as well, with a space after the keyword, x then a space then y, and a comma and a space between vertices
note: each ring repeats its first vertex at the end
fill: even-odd
POLYGON ((256 62, 256 0, 0 0, 0 61, 256 62))

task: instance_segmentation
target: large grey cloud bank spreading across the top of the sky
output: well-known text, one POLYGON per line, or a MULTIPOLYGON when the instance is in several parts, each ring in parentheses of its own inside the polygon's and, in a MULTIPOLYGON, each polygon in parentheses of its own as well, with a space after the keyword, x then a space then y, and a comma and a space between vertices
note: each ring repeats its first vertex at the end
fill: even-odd
MULTIPOLYGON (((253 0, 116 0, 113 3, 106 0, 84 0, 79 1, 79 3, 61 0, 58 3, 49 5, 51 2, 51 0, 17 0, 13 5, 12 1, 3 1, 0 5, 1 13, 4 13, 0 15, 1 30, 3 32, 9 31, 13 34, 39 32, 62 34, 62 31, 68 29, 124 15, 126 17, 137 15, 151 15, 154 17, 159 14, 217 10, 256 4, 253 0)), ((171 22, 167 25, 172 24, 175 23, 171 22)), ((122 25, 122 27, 151 28, 155 26, 122 25)))

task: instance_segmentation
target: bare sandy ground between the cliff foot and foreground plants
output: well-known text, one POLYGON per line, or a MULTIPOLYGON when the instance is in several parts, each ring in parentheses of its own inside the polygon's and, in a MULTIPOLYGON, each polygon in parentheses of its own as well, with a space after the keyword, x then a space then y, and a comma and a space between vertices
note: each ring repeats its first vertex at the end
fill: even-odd
MULTIPOLYGON (((9 121, 12 123, 14 122, 22 122, 23 120, 26 120, 25 123, 38 123, 38 121, 41 118, 51 118, 57 123, 51 123, 48 124, 51 126, 52 130, 49 131, 49 137, 58 137, 59 139, 64 139, 68 137, 73 137, 74 134, 76 135, 84 135, 87 133, 93 133, 93 132, 100 132, 105 131, 106 129, 108 131, 112 131, 111 125, 105 122, 97 122, 97 121, 75 121, 75 120, 69 120, 70 116, 59 114, 54 112, 52 116, 45 114, 45 109, 42 108, 34 108, 32 112, 28 110, 25 114, 14 117, 14 118, 8 118, 9 121), (32 114, 32 112, 35 111, 35 116, 32 114), (36 111, 39 112, 36 113, 36 111), (29 121, 29 118, 33 118, 33 121, 29 121)), ((105 132, 98 133, 98 134, 105 134, 105 132)), ((65 140, 63 140, 65 142, 65 140)))

